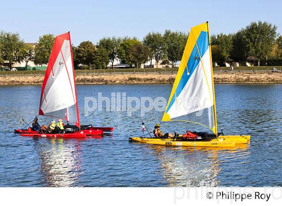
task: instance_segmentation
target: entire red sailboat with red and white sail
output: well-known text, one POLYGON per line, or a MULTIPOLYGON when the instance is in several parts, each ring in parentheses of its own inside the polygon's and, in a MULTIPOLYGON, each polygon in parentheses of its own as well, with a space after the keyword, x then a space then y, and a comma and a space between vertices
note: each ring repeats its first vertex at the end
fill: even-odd
POLYGON ((85 137, 112 132, 112 127, 80 125, 72 43, 69 32, 55 38, 42 84, 39 115, 59 118, 67 122, 60 133, 42 134, 31 128, 15 130, 22 136, 85 137))

